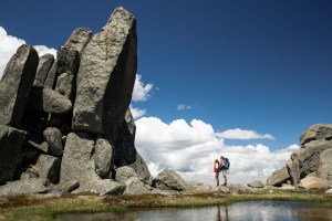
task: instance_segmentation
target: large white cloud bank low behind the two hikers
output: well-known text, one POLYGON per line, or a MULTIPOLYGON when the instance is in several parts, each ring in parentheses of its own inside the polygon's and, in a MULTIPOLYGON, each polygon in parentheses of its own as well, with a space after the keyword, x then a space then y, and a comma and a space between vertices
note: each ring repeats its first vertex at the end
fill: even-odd
POLYGON ((230 182, 266 181, 299 148, 292 145, 271 151, 261 144, 227 146, 216 136, 211 125, 199 119, 190 123, 176 119, 166 124, 157 117, 142 117, 135 123, 136 148, 154 177, 164 169, 174 169, 186 180, 215 185, 212 164, 224 155, 231 164, 230 182))

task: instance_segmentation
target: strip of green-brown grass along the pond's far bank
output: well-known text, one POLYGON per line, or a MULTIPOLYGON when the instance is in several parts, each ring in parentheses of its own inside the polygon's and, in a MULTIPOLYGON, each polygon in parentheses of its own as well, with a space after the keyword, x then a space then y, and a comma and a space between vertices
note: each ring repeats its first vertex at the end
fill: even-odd
POLYGON ((229 204, 240 201, 301 201, 332 208, 332 197, 323 192, 300 190, 263 190, 257 193, 225 194, 219 192, 183 192, 175 196, 108 196, 68 194, 46 199, 42 196, 12 197, 0 199, 0 221, 2 220, 55 220, 61 213, 95 213, 123 211, 131 208, 191 208, 229 204))

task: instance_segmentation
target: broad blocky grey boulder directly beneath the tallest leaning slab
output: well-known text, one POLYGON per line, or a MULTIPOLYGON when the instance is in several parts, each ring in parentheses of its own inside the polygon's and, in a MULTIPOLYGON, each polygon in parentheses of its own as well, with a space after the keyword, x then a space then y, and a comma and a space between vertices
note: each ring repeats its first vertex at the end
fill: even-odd
POLYGON ((92 181, 101 179, 94 166, 94 137, 86 133, 71 133, 62 156, 60 182, 77 180, 80 188, 92 181))

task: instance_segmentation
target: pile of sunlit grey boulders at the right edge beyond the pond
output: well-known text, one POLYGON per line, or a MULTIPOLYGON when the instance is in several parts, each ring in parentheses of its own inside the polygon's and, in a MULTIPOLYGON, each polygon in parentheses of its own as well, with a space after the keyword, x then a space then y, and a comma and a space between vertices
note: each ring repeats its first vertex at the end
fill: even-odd
MULTIPOLYGON (((315 177, 320 179, 320 182, 325 180, 329 183, 332 180, 332 125, 331 124, 317 124, 309 127, 300 137, 302 147, 291 154, 286 167, 282 169, 283 180, 277 180, 277 173, 274 172, 268 178, 267 185, 281 186, 288 180, 293 186, 308 182, 308 180, 314 180, 315 177), (287 170, 284 170, 287 169, 287 170)), ((280 170, 281 171, 281 170, 280 170)), ((329 185, 328 185, 329 186, 329 185)), ((301 187, 319 187, 317 185, 301 185, 301 187)), ((324 187, 320 185, 320 187, 324 187)))

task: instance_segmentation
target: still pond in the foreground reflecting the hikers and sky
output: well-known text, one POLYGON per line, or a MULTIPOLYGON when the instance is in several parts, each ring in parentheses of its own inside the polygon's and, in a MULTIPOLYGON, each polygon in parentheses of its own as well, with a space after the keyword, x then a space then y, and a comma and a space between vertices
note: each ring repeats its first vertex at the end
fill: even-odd
POLYGON ((94 214, 62 214, 63 221, 332 221, 332 209, 301 202, 237 202, 195 209, 133 210, 94 214))

